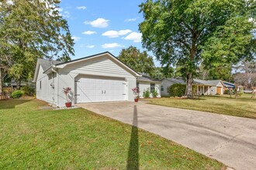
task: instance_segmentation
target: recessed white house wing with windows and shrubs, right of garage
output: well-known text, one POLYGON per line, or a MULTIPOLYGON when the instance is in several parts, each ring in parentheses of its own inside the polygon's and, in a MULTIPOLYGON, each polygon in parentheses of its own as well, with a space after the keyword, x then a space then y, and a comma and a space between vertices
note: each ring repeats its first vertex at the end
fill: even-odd
POLYGON ((145 90, 150 91, 150 97, 152 96, 152 91, 157 91, 157 97, 161 97, 161 81, 152 79, 150 76, 140 73, 141 76, 137 78, 137 87, 140 90, 140 98, 143 98, 143 93, 145 90))

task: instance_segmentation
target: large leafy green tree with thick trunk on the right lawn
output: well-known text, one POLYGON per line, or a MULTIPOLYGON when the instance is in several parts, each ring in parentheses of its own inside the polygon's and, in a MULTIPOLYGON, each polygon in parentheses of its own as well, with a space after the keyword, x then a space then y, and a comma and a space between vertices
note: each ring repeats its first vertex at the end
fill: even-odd
POLYGON ((237 63, 251 53, 253 0, 147 0, 140 5, 142 43, 162 64, 182 67, 185 96, 202 65, 237 63))

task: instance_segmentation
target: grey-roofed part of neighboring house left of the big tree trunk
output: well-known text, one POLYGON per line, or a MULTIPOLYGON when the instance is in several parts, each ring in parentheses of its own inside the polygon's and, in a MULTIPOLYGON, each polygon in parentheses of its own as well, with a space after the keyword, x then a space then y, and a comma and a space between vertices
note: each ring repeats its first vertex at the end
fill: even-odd
POLYGON ((185 84, 185 81, 182 78, 164 78, 161 80, 161 96, 169 96, 168 87, 171 87, 172 84, 182 83, 185 84))

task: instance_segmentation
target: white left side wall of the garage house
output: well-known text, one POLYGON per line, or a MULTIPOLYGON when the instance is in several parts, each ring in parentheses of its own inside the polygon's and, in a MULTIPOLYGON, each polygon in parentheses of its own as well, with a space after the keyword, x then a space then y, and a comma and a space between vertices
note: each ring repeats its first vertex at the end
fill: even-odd
POLYGON ((56 81, 56 74, 44 74, 43 68, 40 66, 36 80, 36 99, 47 101, 51 104, 56 104, 56 95, 54 87, 51 84, 56 81), (41 83, 41 88, 40 88, 41 83))

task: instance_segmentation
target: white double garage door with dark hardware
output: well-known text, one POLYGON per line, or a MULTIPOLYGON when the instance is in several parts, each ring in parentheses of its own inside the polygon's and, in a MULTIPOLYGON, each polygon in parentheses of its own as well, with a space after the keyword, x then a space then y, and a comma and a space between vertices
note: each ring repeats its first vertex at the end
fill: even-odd
POLYGON ((125 100, 124 80, 80 78, 76 81, 76 103, 125 100))

